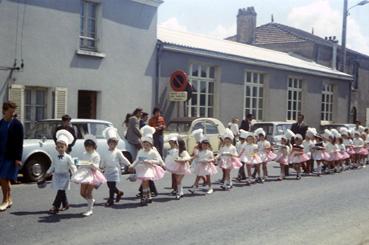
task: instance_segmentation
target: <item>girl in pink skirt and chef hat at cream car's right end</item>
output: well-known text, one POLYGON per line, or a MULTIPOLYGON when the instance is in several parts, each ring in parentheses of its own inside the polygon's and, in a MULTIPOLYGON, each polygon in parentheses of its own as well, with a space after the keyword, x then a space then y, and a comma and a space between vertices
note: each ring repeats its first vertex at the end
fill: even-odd
POLYGON ((238 158, 236 147, 232 144, 234 135, 232 130, 226 129, 223 138, 223 146, 219 150, 217 159, 219 160, 219 167, 224 170, 224 183, 220 186, 223 190, 232 188, 231 171, 232 169, 239 169, 242 163, 238 158))

